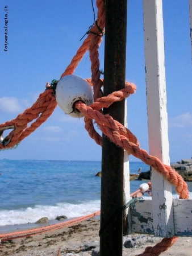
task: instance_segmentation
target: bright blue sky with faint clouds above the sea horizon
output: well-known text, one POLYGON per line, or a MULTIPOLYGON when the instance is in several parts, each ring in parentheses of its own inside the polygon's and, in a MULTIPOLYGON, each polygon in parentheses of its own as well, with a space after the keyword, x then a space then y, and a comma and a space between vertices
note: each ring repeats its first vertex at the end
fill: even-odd
MULTIPOLYGON (((127 100, 128 127, 148 151, 143 9, 141 0, 128 1, 126 80, 137 85, 127 100)), ((95 3, 94 3, 95 6, 95 3)), ((189 1, 163 1, 166 89, 170 161, 192 156, 191 48, 189 1)), ((95 7, 95 13, 97 9, 95 7)), ((93 23, 89 0, 19 0, 0 3, 0 123, 15 118, 44 91, 46 82, 59 79, 80 39, 93 23), (4 6, 8 6, 8 48, 4 51, 4 6)), ((104 40, 99 49, 104 68, 104 40)), ((89 53, 74 75, 91 76, 89 53)), ((0 159, 101 160, 101 147, 87 134, 83 118, 55 112, 14 150, 0 159)), ((137 160, 130 157, 130 160, 137 160)))

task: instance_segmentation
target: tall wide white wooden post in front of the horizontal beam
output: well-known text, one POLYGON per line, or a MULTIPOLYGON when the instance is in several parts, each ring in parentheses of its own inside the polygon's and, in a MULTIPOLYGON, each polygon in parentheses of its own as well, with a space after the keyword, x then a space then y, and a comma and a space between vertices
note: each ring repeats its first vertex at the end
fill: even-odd
MULTIPOLYGON (((149 154, 169 165, 162 0, 143 0, 143 11, 149 154)), ((172 237, 172 187, 156 171, 152 171, 151 181, 154 234, 172 237)))

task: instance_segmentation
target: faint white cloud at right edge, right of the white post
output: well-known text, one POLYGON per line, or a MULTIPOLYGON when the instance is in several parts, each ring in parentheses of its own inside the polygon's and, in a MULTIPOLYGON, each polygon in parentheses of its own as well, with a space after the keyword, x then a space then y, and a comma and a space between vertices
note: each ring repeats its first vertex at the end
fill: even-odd
POLYGON ((181 115, 178 115, 177 117, 172 117, 169 119, 169 127, 179 127, 183 128, 186 126, 192 126, 192 114, 187 112, 183 113, 181 115))

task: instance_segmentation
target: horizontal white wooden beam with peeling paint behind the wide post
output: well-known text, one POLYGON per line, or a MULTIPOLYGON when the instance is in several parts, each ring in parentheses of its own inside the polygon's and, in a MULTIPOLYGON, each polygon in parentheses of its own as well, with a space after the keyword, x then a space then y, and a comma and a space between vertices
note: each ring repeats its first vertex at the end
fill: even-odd
MULTIPOLYGON (((192 237, 192 200, 173 200, 174 235, 192 237)), ((162 207, 161 210, 164 210, 162 207)), ((131 231, 154 234, 152 200, 140 200, 131 204, 131 231)), ((171 227, 169 227, 171 228, 171 227)))

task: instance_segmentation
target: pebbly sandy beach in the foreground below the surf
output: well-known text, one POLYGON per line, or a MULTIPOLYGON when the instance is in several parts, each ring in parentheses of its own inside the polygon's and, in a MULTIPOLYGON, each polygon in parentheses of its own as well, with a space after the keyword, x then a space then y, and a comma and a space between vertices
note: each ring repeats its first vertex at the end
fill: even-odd
MULTIPOLYGON (((14 256, 61 256, 61 255, 99 255, 99 226, 100 221, 95 218, 80 222, 79 224, 24 238, 0 243, 0 255, 14 256), (60 253, 58 253, 60 250, 60 253)), ((16 230, 18 231, 18 230, 16 230)), ((20 231, 20 230, 19 230, 20 231)), ((2 232, 6 233, 6 232, 2 232)), ((10 233, 10 232, 7 232, 10 233)), ((145 236, 143 234, 131 234, 123 237, 124 241, 131 240, 133 247, 123 246, 124 255, 137 255, 143 253, 145 247, 154 246, 161 238, 145 236), (135 243, 135 245, 134 245, 135 243)), ((180 237, 178 241, 162 253, 165 255, 190 256, 192 238, 180 237)))

